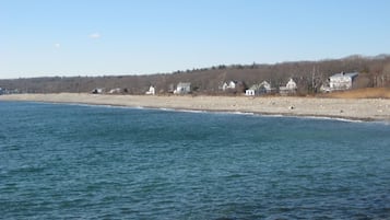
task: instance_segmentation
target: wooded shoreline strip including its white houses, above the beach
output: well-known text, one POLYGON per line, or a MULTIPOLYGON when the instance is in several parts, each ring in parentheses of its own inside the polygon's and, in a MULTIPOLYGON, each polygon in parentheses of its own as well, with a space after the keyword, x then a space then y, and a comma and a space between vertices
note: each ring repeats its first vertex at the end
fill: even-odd
POLYGON ((390 55, 273 65, 220 65, 154 74, 0 79, 0 88, 4 94, 94 91, 102 94, 169 95, 176 91, 196 95, 318 95, 347 89, 390 88, 390 55))

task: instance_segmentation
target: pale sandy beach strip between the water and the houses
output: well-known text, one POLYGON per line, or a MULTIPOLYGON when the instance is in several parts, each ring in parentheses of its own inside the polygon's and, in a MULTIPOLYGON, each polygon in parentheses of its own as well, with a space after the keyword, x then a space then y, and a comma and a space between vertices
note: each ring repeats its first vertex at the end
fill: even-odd
POLYGON ((146 96, 60 93, 0 95, 0 101, 80 103, 390 121, 390 100, 387 99, 146 96))

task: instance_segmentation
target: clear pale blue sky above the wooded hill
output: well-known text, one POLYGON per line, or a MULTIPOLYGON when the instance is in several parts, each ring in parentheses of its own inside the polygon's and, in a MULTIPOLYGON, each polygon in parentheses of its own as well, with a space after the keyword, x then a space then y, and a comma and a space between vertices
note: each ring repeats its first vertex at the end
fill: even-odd
POLYGON ((0 0, 0 78, 388 54, 389 9, 389 0, 0 0))

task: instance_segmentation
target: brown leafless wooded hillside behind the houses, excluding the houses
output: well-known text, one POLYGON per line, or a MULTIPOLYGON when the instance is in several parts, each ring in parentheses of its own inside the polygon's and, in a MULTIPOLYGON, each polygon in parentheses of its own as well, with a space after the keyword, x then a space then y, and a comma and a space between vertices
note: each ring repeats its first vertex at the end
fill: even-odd
MULTIPOLYGON (((91 92, 104 88, 106 92, 120 88, 127 94, 144 94, 150 85, 157 94, 169 93, 178 82, 191 82, 193 93, 221 94, 224 82, 239 81, 245 86, 263 80, 272 86, 285 84, 293 78, 298 94, 319 92, 322 83, 338 72, 359 72, 355 88, 390 86, 390 56, 350 56, 343 59, 320 61, 281 62, 275 65, 232 65, 147 76, 117 77, 50 77, 0 80, 3 90, 21 93, 91 92)), ((241 92, 241 91, 235 91, 241 92)))

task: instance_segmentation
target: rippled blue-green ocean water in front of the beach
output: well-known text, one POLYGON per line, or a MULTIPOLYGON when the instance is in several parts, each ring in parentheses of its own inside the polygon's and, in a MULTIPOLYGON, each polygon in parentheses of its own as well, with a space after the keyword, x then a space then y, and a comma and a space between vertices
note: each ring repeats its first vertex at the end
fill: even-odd
POLYGON ((390 125, 0 102, 0 219, 390 219, 390 125))

